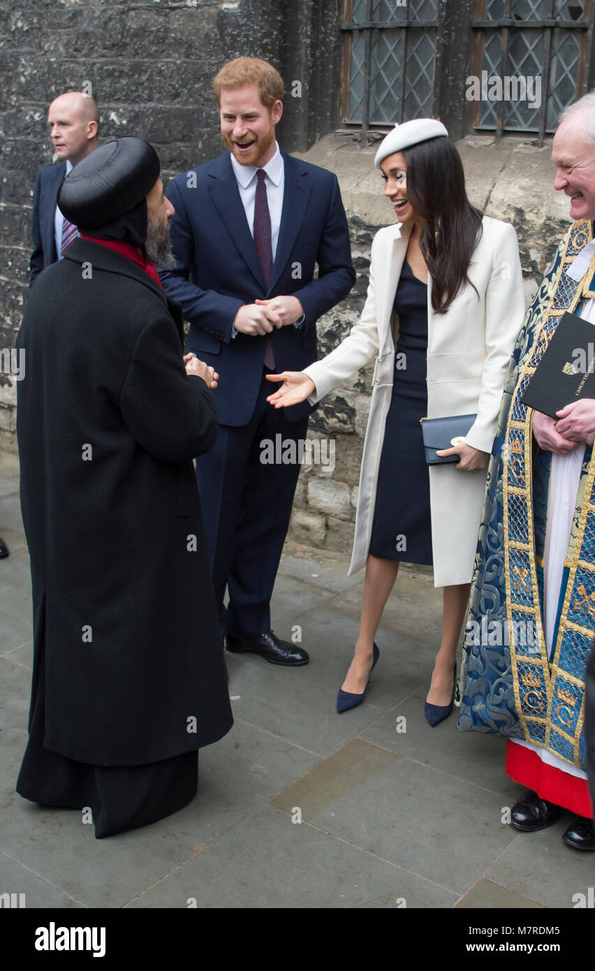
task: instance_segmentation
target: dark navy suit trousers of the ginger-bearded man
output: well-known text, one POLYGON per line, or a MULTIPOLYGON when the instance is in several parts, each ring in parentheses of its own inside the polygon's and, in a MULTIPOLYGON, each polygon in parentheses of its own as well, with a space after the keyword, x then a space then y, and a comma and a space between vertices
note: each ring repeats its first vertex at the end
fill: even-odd
POLYGON ((300 473, 298 461, 278 459, 283 447, 295 455, 308 431, 308 416, 288 421, 267 402, 277 386, 263 373, 248 424, 219 424, 215 447, 196 459, 221 637, 271 629, 270 601, 300 473), (274 462, 266 460, 271 448, 274 462))

